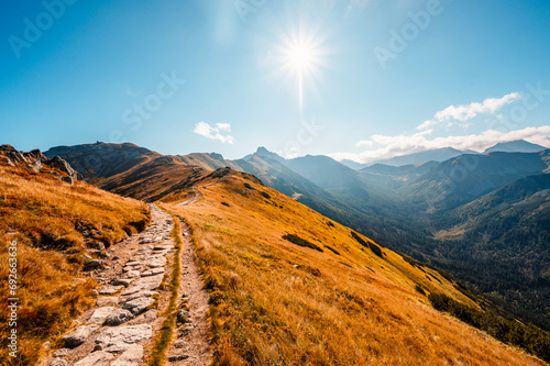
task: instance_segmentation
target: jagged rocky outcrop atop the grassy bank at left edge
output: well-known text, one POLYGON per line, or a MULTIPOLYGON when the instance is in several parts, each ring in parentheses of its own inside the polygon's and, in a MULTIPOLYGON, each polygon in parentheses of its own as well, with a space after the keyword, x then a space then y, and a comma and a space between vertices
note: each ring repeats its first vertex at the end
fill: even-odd
MULTIPOLYGON (((0 146, 0 157, 9 166, 26 166, 34 173, 43 171, 44 167, 55 169, 59 180, 73 184, 75 180, 82 180, 82 175, 73 169, 70 164, 59 156, 46 157, 40 149, 33 149, 29 153, 20 152, 11 145, 0 146), (61 171, 63 174, 58 174, 61 171)), ((0 160, 0 162, 1 162, 0 160)))

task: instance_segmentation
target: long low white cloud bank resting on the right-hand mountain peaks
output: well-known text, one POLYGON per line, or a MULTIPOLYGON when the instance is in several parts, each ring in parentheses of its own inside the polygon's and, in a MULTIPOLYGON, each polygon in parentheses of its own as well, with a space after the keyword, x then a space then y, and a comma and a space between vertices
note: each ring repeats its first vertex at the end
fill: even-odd
MULTIPOLYGON (((364 151, 362 153, 334 153, 329 156, 337 160, 351 159, 359 163, 372 163, 378 159, 391 158, 394 156, 421 153, 435 148, 453 147, 460 151, 473 149, 483 152, 501 142, 510 142, 516 140, 526 140, 534 144, 550 147, 550 125, 540 127, 526 127, 522 130, 501 132, 487 130, 481 134, 471 134, 463 136, 446 136, 427 138, 431 130, 420 131, 411 135, 373 135, 366 142, 382 145, 383 147, 364 151)), ((365 142, 363 142, 363 145, 365 142)))

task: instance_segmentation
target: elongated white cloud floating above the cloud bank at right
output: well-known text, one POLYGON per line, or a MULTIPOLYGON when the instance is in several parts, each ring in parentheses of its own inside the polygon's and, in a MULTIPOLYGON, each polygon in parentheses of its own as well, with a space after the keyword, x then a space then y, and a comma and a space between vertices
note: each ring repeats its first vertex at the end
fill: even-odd
POLYGON ((479 114, 495 114, 504 106, 513 103, 521 99, 518 92, 510 92, 503 98, 487 98, 483 102, 474 102, 465 106, 450 106, 442 111, 439 111, 433 117, 433 120, 425 121, 417 126, 417 130, 426 130, 447 122, 447 126, 462 125, 469 126, 468 121, 479 114))

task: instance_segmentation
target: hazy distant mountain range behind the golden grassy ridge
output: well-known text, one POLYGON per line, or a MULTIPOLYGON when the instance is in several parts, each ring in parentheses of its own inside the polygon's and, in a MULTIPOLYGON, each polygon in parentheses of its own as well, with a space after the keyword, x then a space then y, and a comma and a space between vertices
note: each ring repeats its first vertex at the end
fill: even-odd
MULTIPOLYGON (((512 145, 526 146, 519 143, 501 147, 512 145)), ((388 248, 449 270, 499 306, 550 329, 550 284, 543 267, 550 251, 538 246, 537 252, 529 252, 531 256, 516 255, 510 251, 517 244, 506 241, 521 236, 522 242, 539 243, 546 237, 550 226, 540 223, 547 220, 548 212, 543 209, 547 196, 535 192, 539 199, 529 201, 528 207, 536 207, 522 219, 522 226, 512 225, 506 233, 502 232, 502 215, 494 214, 503 207, 491 198, 501 189, 546 177, 550 171, 550 149, 462 154, 440 163, 430 160, 398 167, 375 164, 361 170, 327 156, 285 159, 263 147, 237 160, 213 153, 163 156, 131 144, 55 147, 45 155, 62 156, 101 188, 146 200, 187 187, 202 169, 230 167, 254 175, 265 185, 388 248), (109 167, 95 168, 96 160, 106 152, 110 152, 105 159, 109 167), (183 176, 186 178, 182 179, 183 176), (474 212, 472 207, 477 207, 476 202, 485 202, 485 210, 492 212, 475 211, 474 218, 484 218, 483 225, 464 213, 474 212), (465 220, 470 220, 469 224, 465 220), (501 243, 492 248, 491 255, 477 252, 487 237, 501 243), (495 257, 499 260, 494 260, 495 257), (469 270, 474 267, 484 270, 469 270), (514 276, 502 276, 503 273, 514 276)), ((544 189, 540 187, 540 191, 544 189)), ((530 198, 517 201, 525 199, 530 198)), ((525 212, 519 207, 522 206, 506 211, 507 215, 519 218, 519 212, 525 212)))

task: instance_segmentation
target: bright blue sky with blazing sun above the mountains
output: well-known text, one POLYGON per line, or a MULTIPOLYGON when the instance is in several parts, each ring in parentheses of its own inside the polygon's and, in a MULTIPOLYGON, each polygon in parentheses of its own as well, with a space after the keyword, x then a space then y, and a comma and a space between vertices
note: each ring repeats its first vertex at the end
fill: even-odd
POLYGON ((0 143, 19 149, 132 142, 238 158, 265 146, 370 162, 550 146, 548 1, 1 7, 0 143))

